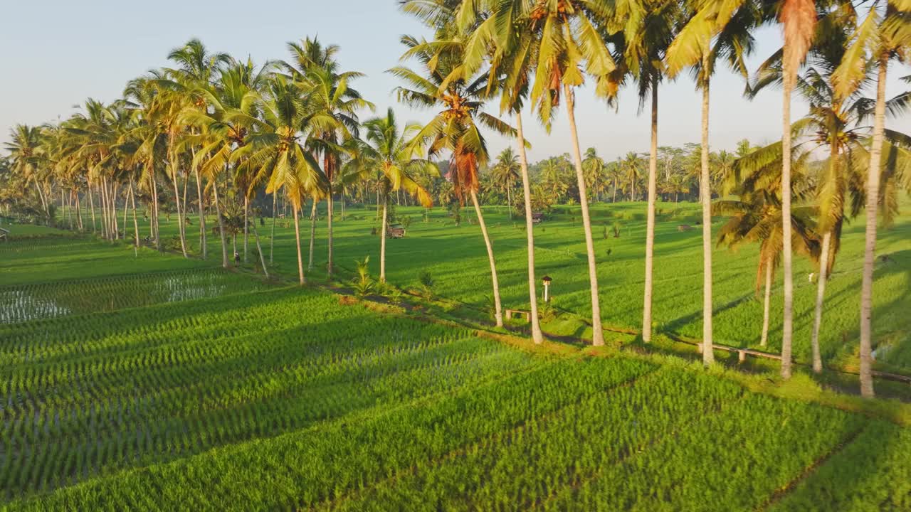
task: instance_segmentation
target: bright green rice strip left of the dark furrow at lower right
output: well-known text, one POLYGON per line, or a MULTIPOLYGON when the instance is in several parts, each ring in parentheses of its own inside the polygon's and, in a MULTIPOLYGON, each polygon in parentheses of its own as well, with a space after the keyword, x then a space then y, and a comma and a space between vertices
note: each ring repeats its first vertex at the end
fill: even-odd
POLYGON ((581 488, 564 488, 545 508, 754 510, 865 421, 834 408, 748 394, 722 415, 605 468, 581 488))

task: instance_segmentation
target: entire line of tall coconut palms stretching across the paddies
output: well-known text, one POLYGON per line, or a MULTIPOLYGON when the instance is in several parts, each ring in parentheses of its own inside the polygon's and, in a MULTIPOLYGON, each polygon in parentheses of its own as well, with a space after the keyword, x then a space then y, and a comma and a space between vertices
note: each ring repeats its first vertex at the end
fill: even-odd
MULTIPOLYGON (((244 201, 245 215, 251 194, 257 189, 273 194, 273 204, 281 191, 292 204, 298 271, 303 283, 298 219, 307 199, 312 200, 313 229, 317 201, 327 200, 331 213, 333 190, 358 181, 373 181, 378 202, 383 205, 385 230, 387 204, 393 192, 404 190, 425 206, 431 203, 421 177, 437 169, 432 159, 445 156, 447 178, 453 182, 455 195, 459 200, 471 200, 476 210, 490 261, 496 321, 501 324, 496 261, 477 199, 479 169, 490 161, 482 129, 493 130, 516 140, 515 157, 501 155, 501 161, 492 169, 509 175, 507 180, 517 175, 521 181, 527 222, 531 331, 533 340, 541 343, 523 113, 530 109, 549 130, 553 116, 562 106, 568 117, 568 160, 576 178, 573 193, 580 205, 588 255, 593 343, 600 345, 604 341, 589 194, 602 193, 603 180, 598 178, 602 164, 597 155, 584 158, 579 148, 575 94, 587 79, 594 82, 595 94, 607 102, 617 101, 624 86, 634 87, 640 105, 648 105, 651 118, 642 314, 642 339, 648 343, 652 337, 660 85, 689 70, 701 91, 698 167, 704 261, 702 353, 705 364, 711 364, 711 78, 720 63, 749 77, 744 59, 752 51, 753 34, 761 26, 779 22, 783 26, 782 49, 763 63, 747 90, 749 96, 769 85, 783 87, 782 140, 770 147, 744 150, 736 161, 730 155, 723 159, 722 176, 730 189, 739 193, 740 204, 722 204, 714 209, 759 211, 759 215, 741 217, 744 222, 763 226, 763 232, 769 234, 763 237, 752 233, 743 238, 769 240, 761 245, 761 269, 767 274, 779 258, 782 261, 782 375, 788 378, 792 372, 793 231, 804 233, 804 217, 795 214, 792 200, 805 197, 800 195, 802 189, 798 186, 806 155, 814 143, 832 150, 830 171, 824 179, 818 179, 822 187, 818 195, 824 200, 819 201, 812 217, 814 229, 823 233, 817 251, 819 259, 829 271, 837 251, 844 194, 848 190, 844 185, 847 180, 843 179, 847 174, 841 169, 854 170, 852 211, 865 210, 867 220, 860 326, 861 387, 863 394, 873 395, 872 272, 877 212, 880 204, 886 204, 880 182, 896 179, 901 169, 897 162, 905 158, 908 148, 908 140, 885 130, 884 121, 886 110, 897 113, 906 107, 906 97, 888 101, 885 98, 889 63, 905 58, 911 40, 909 5, 905 0, 874 0, 862 7, 830 0, 400 0, 399 4, 405 13, 423 21, 433 34, 429 39, 403 37, 403 61, 419 66, 390 70, 403 82, 396 89, 400 101, 435 111, 428 123, 400 126, 391 109, 385 116, 361 123, 358 113, 372 105, 350 87, 350 82, 360 75, 338 69, 335 46, 324 47, 308 39, 301 45, 289 45, 290 61, 254 67, 249 61, 210 54, 199 41, 190 41, 171 53, 175 67, 131 81, 123 99, 107 106, 90 100, 84 113, 56 126, 16 128, 13 142, 7 146, 13 157, 12 166, 20 179, 35 187, 46 211, 50 204, 46 197, 49 176, 61 190, 69 191, 77 208, 79 192, 85 191, 93 215, 94 191, 100 203, 102 231, 107 237, 118 236, 118 198, 130 201, 134 225, 135 202, 138 197, 146 198, 152 211, 150 237, 159 247, 159 182, 166 184, 172 189, 169 193, 173 193, 180 220, 179 243, 184 255, 188 253, 184 221, 187 188, 192 177, 200 198, 200 247, 205 251, 202 198, 210 192, 220 223, 225 265, 228 255, 220 188, 230 182, 244 201), (807 56, 809 65, 803 67, 807 56), (875 83, 876 93, 866 99, 860 93, 868 83, 875 83), (808 118, 793 124, 790 98, 794 90, 810 99, 812 107, 808 118), (486 110, 491 105, 497 105, 496 115, 486 110), (500 115, 511 116, 515 126, 507 124, 500 115), (873 119, 873 128, 857 127, 868 118, 873 119), (825 131, 818 129, 820 126, 829 135, 814 135, 825 131), (856 137, 859 132, 870 134, 868 144, 856 137), (508 162, 508 169, 499 165, 503 162, 508 162), (773 229, 773 225, 780 229, 773 229)), ((630 158, 630 173, 639 172, 637 158, 630 158)), ((636 180, 631 183, 634 188, 636 180)), ((567 185, 565 181, 562 184, 567 185)), ((638 190, 633 188, 630 197, 635 198, 638 190)), ((226 189, 222 190, 224 194, 226 189)), ((511 192, 511 188, 507 189, 509 202, 511 192)), ((330 251, 327 270, 331 275, 333 216, 327 215, 326 219, 330 251)), ((244 222, 245 247, 247 225, 244 222)), ((255 222, 252 227, 258 240, 255 222)), ((138 243, 138 229, 136 233, 138 243)), ((807 235, 811 254, 816 238, 807 235)), ((381 236, 381 281, 385 278, 384 248, 385 237, 381 236)), ((264 258, 263 251, 259 253, 264 258)), ((265 268, 265 261, 261 264, 265 268)), ((820 280, 819 290, 822 297, 824 279, 820 280)), ((817 323, 822 311, 822 301, 819 303, 817 323)), ((817 334, 815 329, 814 343, 817 334)), ((817 352, 814 348, 814 361, 817 352)))

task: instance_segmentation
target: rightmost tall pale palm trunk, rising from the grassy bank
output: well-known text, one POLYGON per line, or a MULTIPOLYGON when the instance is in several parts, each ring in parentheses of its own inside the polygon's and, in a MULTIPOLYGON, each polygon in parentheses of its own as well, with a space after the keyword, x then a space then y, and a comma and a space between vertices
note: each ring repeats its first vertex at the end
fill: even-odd
POLYGON ((866 239, 864 244, 864 277, 860 295, 860 394, 873 398, 872 354, 873 339, 873 267, 876 259, 876 213, 879 205, 880 160, 883 153, 885 129, 885 71, 889 55, 879 56, 876 77, 876 106, 873 117, 873 142, 870 145, 870 169, 866 176, 866 239))

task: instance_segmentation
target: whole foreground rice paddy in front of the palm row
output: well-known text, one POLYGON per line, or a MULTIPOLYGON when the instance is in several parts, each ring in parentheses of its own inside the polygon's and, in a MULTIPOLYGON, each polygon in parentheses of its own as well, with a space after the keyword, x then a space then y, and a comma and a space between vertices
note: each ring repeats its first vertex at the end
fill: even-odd
POLYGON ((4 292, 63 304, 3 304, 5 509, 911 508, 911 430, 681 359, 501 343, 104 242, 4 251, 46 265, 4 292))

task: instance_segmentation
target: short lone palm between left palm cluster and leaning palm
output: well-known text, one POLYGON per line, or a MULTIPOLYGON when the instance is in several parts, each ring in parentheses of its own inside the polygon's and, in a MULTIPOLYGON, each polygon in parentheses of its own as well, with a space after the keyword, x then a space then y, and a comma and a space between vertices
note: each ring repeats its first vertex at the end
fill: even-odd
POLYGON ((366 141, 356 145, 353 158, 346 164, 346 174, 357 174, 363 178, 379 173, 378 189, 383 204, 380 229, 380 282, 386 281, 386 223, 388 220, 389 192, 404 189, 425 208, 433 206, 427 190, 415 180, 417 173, 438 173, 436 166, 427 159, 416 158, 421 150, 413 136, 421 129, 409 123, 399 128, 392 108, 381 118, 363 123, 366 141))

